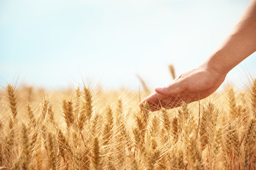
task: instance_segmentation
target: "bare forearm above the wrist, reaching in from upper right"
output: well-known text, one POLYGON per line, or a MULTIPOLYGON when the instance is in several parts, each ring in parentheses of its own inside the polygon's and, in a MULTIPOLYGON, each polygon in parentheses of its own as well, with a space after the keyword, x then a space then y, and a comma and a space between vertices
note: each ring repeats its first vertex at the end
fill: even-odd
POLYGON ((253 0, 222 45, 203 64, 228 74, 237 64, 256 51, 256 0, 253 0))

